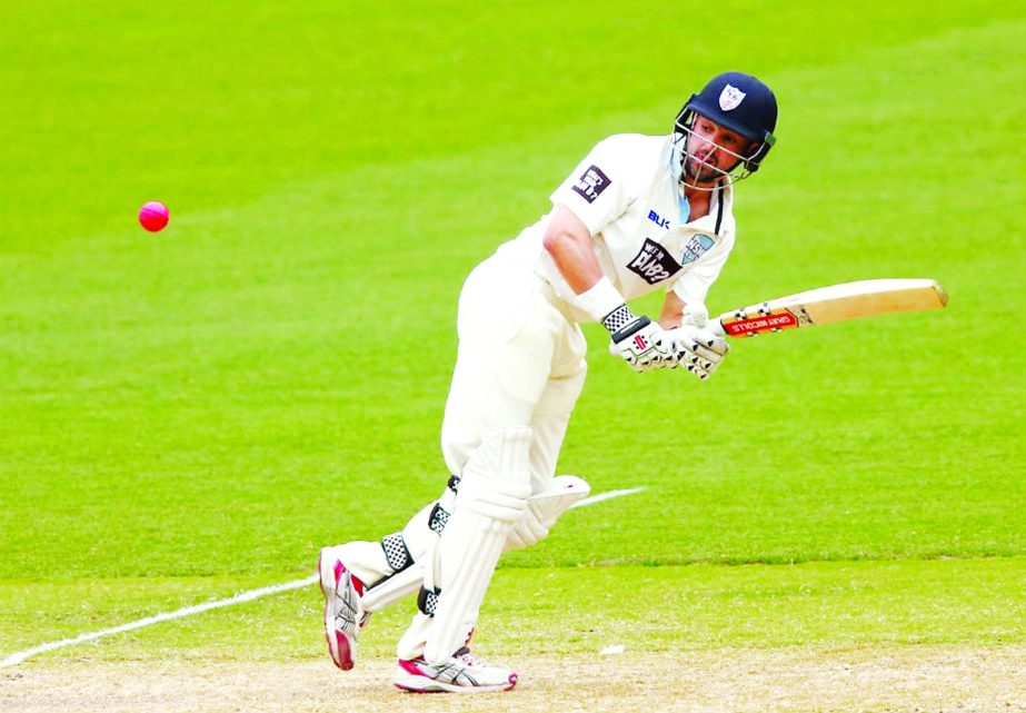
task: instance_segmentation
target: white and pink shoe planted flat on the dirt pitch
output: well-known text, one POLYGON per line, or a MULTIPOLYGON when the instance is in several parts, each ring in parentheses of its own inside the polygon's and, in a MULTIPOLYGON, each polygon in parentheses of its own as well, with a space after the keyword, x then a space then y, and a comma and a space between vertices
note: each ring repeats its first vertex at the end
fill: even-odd
POLYGON ((517 685, 517 674, 509 669, 485 665, 464 646, 444 664, 429 664, 424 658, 400 660, 394 683, 397 689, 415 693, 484 693, 509 691, 517 685))

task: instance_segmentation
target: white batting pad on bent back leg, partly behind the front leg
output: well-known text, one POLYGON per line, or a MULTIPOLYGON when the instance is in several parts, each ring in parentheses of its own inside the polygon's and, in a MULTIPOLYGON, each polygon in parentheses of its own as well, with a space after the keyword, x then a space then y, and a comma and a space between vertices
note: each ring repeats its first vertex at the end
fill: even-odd
MULTIPOLYGON (((380 611, 422 588, 424 563, 429 562, 434 556, 434 546, 449 519, 459 483, 458 477, 449 478, 449 486, 442 498, 425 507, 411 521, 427 523, 427 527, 408 525, 402 532, 388 535, 381 541, 381 546, 385 548, 395 574, 367 590, 361 600, 363 611, 370 613, 380 611), (411 553, 411 551, 415 552, 411 553)), ((506 537, 504 551, 529 547, 545 539, 559 516, 567 512, 574 503, 588 497, 590 493, 591 486, 582 478, 576 475, 557 475, 552 478, 549 488, 527 499, 527 511, 514 524, 506 537)), ((424 592, 420 598, 425 600, 426 606, 421 611, 429 608, 427 600, 434 598, 428 594, 434 593, 432 590, 425 588, 424 592)))

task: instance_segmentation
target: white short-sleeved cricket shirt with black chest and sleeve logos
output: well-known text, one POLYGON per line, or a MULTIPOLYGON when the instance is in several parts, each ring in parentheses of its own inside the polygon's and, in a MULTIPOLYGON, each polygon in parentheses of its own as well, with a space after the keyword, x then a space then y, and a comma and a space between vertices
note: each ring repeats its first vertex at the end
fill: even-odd
MULTIPOLYGON (((671 136, 610 136, 551 196, 588 227, 602 273, 626 299, 673 289, 686 305, 703 305, 734 247, 729 184, 714 191, 707 216, 681 222, 679 156, 671 136)), ((529 261, 578 321, 591 321, 541 245, 550 220, 551 212, 525 228, 499 256, 529 261)))

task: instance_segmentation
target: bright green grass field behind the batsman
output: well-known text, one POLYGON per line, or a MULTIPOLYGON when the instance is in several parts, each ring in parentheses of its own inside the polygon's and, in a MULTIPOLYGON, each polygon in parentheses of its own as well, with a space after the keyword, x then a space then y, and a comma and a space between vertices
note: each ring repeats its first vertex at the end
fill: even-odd
MULTIPOLYGON (((710 309, 905 276, 950 304, 735 344, 708 383, 636 375, 589 327, 560 471, 647 489, 506 557, 484 645, 1026 643, 1020 3, 7 14, 0 658, 399 528, 445 483, 462 278, 596 141, 668 132, 735 68, 775 89, 779 143, 738 187, 710 309), (159 235, 136 222, 152 199, 159 235)), ((319 606, 308 587, 26 665, 313 661, 319 606)))

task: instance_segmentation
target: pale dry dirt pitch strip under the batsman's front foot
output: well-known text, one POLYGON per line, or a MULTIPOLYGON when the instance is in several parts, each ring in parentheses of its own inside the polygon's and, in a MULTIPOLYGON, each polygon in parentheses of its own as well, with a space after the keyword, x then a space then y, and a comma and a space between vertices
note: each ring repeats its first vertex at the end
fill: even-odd
POLYGON ((377 658, 327 662, 42 662, 0 671, 0 710, 308 713, 487 711, 1026 712, 1026 646, 729 650, 539 656, 520 685, 474 696, 411 695, 377 658))

